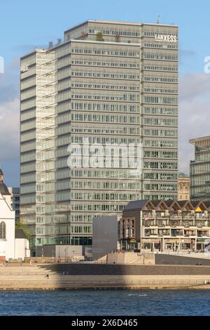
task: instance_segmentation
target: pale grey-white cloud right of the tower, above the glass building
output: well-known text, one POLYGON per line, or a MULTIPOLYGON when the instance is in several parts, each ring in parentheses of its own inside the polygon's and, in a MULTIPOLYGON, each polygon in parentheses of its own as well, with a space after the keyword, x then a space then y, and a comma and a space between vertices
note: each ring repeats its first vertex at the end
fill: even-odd
POLYGON ((179 169, 189 173, 194 147, 190 138, 209 136, 210 74, 186 74, 180 79, 179 169))

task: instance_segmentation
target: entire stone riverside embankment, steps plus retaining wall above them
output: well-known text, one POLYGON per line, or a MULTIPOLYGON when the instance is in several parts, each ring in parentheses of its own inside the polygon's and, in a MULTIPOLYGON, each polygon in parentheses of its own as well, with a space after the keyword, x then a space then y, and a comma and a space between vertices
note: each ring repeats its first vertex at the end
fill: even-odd
POLYGON ((70 268, 69 265, 57 265, 57 271, 54 271, 55 266, 1 267, 0 290, 210 289, 208 266, 121 265, 120 268, 120 265, 72 264, 70 268), (104 272, 110 274, 103 275, 104 272), (139 275, 131 275, 132 272, 139 275))

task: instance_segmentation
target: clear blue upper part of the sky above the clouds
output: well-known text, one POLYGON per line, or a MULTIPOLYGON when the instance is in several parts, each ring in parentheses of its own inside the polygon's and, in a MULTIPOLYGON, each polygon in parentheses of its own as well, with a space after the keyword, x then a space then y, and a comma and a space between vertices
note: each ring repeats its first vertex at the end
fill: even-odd
POLYGON ((68 27, 87 19, 156 22, 180 26, 181 72, 199 72, 209 54, 209 1, 0 0, 1 56, 6 62, 34 46, 57 41, 68 27), (206 42, 205 42, 206 41, 206 42), (181 54, 182 55, 182 54, 181 54))

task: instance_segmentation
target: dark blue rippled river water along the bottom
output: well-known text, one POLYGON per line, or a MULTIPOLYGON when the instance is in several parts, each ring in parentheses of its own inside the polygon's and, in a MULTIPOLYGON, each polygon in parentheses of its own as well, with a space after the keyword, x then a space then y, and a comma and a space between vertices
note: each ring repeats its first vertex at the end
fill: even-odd
POLYGON ((0 291, 0 315, 210 315, 210 290, 0 291))

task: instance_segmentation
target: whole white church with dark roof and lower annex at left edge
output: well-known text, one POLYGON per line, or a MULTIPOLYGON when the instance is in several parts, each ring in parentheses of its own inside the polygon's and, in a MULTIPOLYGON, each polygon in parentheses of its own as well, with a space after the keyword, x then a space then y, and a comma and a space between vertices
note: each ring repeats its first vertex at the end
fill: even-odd
POLYGON ((29 240, 23 230, 15 231, 15 211, 10 209, 10 192, 0 169, 0 258, 22 260, 30 256, 29 240))

